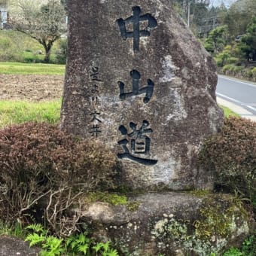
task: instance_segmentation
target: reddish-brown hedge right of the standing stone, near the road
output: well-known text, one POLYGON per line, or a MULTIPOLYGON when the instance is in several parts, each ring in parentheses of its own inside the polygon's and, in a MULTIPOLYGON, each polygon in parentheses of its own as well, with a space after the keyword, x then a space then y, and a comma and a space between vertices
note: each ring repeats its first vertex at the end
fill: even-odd
POLYGON ((204 142, 200 163, 215 170, 217 184, 256 203, 256 122, 227 118, 221 133, 204 142))

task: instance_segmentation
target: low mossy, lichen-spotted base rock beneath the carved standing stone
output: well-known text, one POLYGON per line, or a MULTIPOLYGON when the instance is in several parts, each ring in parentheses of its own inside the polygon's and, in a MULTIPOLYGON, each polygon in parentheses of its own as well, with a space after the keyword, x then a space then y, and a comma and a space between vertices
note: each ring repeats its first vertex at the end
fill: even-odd
POLYGON ((198 194, 148 193, 119 206, 90 203, 84 223, 120 255, 202 256, 240 245, 251 227, 242 206, 227 194, 198 194))

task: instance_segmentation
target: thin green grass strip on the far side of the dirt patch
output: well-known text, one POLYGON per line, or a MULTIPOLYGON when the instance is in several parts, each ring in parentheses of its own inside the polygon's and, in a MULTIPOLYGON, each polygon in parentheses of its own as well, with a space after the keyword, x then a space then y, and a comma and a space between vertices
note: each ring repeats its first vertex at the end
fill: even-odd
POLYGON ((38 75, 64 75, 65 65, 0 62, 2 74, 38 74, 38 75))

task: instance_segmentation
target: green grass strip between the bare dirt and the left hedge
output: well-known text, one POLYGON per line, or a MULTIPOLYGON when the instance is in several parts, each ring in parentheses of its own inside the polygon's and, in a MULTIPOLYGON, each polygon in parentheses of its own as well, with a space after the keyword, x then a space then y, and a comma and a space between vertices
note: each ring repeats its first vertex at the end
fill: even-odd
POLYGON ((0 128, 29 121, 58 123, 60 102, 1 101, 0 128))

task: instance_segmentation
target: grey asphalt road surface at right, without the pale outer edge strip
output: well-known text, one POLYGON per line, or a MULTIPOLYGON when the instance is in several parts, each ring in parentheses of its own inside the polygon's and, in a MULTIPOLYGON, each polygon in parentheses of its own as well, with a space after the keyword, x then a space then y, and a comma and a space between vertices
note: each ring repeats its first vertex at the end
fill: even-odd
POLYGON ((216 96, 256 115, 256 84, 218 75, 216 96))

